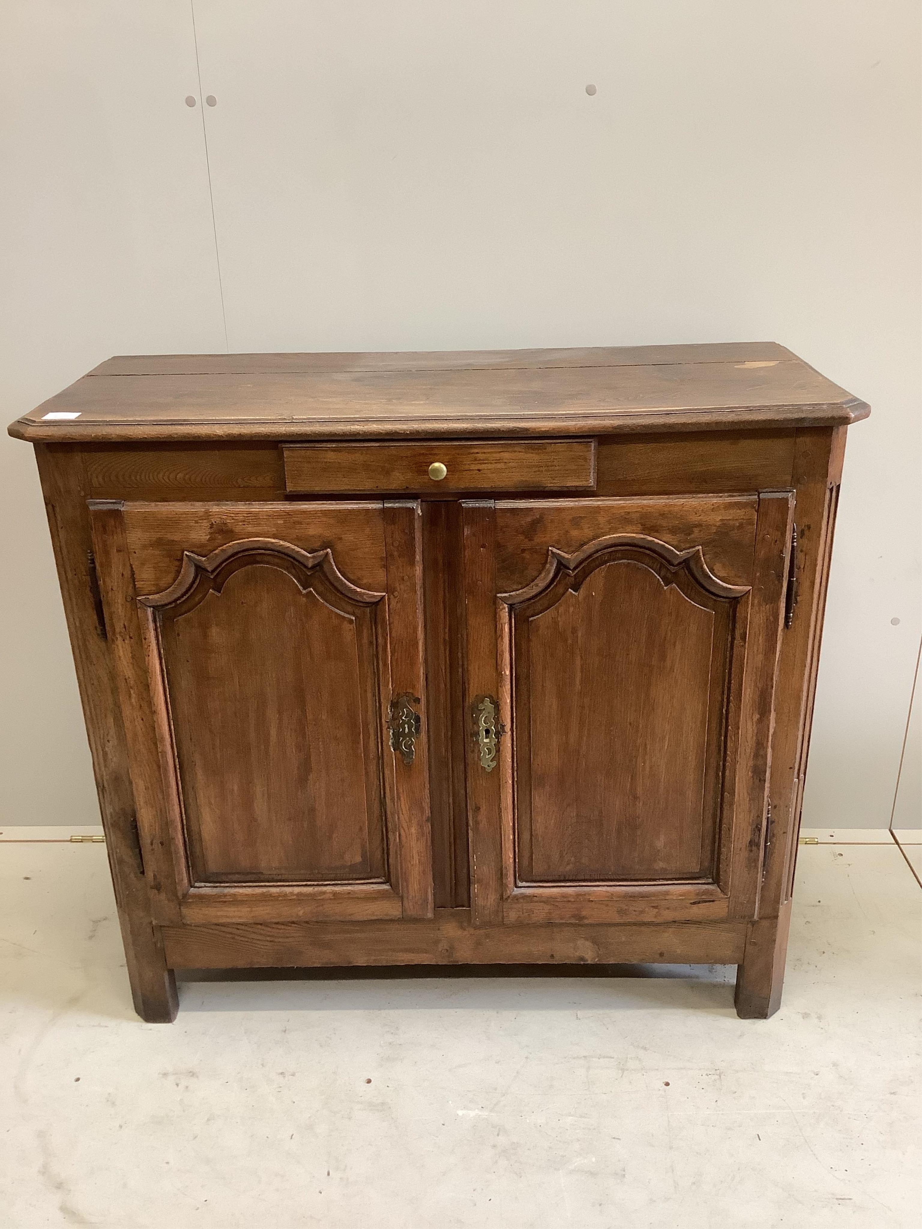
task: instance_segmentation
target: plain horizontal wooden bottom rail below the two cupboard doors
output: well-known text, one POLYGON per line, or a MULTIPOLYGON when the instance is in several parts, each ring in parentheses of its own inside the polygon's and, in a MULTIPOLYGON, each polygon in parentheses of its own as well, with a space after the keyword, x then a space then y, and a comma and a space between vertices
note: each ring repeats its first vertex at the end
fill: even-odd
POLYGON ((252 922, 162 927, 168 968, 316 968, 348 965, 736 965, 745 922, 502 925, 467 909, 423 922, 252 922))

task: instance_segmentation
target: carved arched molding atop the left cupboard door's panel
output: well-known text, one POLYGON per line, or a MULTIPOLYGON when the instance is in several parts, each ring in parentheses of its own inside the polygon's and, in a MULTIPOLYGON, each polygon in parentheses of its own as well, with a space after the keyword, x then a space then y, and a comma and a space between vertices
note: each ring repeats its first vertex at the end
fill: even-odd
POLYGON ((218 547, 209 556, 184 551, 179 574, 172 585, 159 594, 139 597, 138 601, 141 606, 155 611, 165 611, 167 607, 179 605, 188 611, 198 606, 207 594, 220 594, 235 571, 254 564, 284 571, 291 576, 302 594, 312 590, 317 578, 322 578, 326 581, 325 589, 331 595, 338 594, 353 606, 375 606, 385 596, 368 589, 359 589, 358 585, 347 580, 337 568, 329 547, 309 552, 277 538, 241 538, 237 542, 218 547))

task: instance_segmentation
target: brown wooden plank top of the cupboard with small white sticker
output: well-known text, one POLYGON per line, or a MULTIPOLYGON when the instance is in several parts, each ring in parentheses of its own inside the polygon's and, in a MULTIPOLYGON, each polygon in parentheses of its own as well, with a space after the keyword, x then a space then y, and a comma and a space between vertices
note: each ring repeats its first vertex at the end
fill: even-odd
POLYGON ((605 435, 847 425, 869 407, 774 342, 113 358, 17 419, 32 442, 605 435))

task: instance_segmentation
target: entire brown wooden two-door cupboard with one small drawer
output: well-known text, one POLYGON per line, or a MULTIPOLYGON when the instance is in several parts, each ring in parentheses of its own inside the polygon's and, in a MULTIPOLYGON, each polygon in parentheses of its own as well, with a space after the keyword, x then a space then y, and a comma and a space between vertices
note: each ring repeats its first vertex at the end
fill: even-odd
POLYGON ((135 1007, 739 966, 778 1007, 836 500, 776 344, 103 363, 34 445, 135 1007))

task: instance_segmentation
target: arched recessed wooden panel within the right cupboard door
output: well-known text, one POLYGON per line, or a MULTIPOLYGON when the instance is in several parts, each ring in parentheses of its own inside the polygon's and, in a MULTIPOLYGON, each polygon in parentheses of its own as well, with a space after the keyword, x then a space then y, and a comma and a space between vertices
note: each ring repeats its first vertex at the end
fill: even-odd
POLYGON ((747 592, 699 549, 615 535, 502 595, 519 884, 715 878, 747 592))

